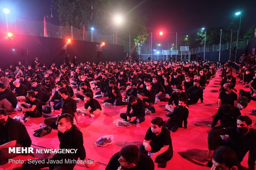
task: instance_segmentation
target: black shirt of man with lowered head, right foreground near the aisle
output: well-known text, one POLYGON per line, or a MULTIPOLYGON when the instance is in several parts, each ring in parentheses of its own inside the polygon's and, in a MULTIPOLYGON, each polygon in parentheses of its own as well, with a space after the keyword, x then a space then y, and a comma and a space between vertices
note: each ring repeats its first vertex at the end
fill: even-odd
POLYGON ((241 115, 240 110, 237 107, 232 106, 231 112, 229 114, 225 114, 222 111, 222 107, 223 106, 220 106, 218 112, 215 114, 211 127, 215 127, 218 120, 220 120, 220 126, 222 127, 236 127, 237 116, 241 115))

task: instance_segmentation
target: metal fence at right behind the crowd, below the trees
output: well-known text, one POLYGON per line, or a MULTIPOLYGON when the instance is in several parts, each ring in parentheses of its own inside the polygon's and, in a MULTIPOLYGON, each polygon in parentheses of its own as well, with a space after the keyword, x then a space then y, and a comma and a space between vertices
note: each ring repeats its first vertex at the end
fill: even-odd
MULTIPOLYGON (((244 49, 247 44, 248 44, 249 40, 240 40, 238 42, 238 46, 237 46, 237 49, 244 49)), ((232 42, 232 46, 231 46, 231 50, 233 49, 233 45, 236 44, 236 41, 235 42, 232 42)), ((205 47, 205 52, 211 52, 211 51, 224 51, 224 50, 230 50, 230 42, 227 42, 225 44, 213 44, 211 46, 206 46, 205 47)), ((197 47, 197 48, 193 48, 193 49, 190 49, 190 53, 191 54, 196 54, 196 53, 201 53, 201 52, 204 52, 204 46, 203 47, 197 47)))

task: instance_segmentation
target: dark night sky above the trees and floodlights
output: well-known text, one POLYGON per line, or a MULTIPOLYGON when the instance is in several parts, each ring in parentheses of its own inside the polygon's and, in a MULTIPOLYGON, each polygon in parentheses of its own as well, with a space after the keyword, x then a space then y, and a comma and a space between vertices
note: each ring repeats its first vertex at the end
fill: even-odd
MULTIPOLYGON (((0 7, 10 9, 10 18, 42 21, 43 16, 50 14, 50 0, 1 0, 0 7)), ((225 29, 230 22, 239 24, 239 16, 235 15, 238 11, 242 12, 241 29, 256 24, 256 0, 125 0, 123 12, 133 8, 147 16, 153 43, 161 43, 162 48, 175 43, 175 32, 178 39, 183 39, 202 27, 225 29), (160 30, 164 36, 159 36, 160 30)), ((59 25, 56 10, 52 12, 51 22, 59 25)), ((0 19, 4 20, 5 15, 1 14, 0 19)))

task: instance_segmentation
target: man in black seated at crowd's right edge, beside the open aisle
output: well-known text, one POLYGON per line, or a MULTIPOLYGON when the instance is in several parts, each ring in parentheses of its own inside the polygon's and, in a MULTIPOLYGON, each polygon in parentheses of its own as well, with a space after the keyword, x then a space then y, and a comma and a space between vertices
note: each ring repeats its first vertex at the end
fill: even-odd
POLYGON ((203 89, 199 86, 199 81, 194 81, 194 86, 190 87, 187 90, 187 98, 188 98, 188 105, 192 105, 198 102, 199 98, 201 100, 201 103, 203 102, 203 89))

